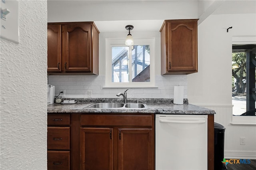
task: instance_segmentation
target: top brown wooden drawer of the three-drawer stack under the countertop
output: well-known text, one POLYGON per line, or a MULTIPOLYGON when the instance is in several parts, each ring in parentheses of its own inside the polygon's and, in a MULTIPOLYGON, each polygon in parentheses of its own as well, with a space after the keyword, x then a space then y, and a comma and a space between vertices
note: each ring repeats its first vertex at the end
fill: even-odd
POLYGON ((70 115, 48 115, 48 125, 70 125, 70 115))

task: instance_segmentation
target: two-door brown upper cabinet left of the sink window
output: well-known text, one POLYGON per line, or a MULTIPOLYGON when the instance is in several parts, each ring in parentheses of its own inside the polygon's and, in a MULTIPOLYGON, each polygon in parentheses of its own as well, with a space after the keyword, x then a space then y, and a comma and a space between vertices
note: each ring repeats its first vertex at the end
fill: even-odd
POLYGON ((99 72, 99 31, 94 22, 48 23, 48 74, 99 72))

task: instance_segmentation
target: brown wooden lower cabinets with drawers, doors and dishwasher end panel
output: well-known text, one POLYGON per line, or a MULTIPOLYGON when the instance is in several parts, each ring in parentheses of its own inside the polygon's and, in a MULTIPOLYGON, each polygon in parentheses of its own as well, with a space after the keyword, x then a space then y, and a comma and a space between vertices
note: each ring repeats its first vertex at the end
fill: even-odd
MULTIPOLYGON (((207 133, 214 170, 214 115, 207 133)), ((154 114, 48 113, 47 141, 48 170, 155 169, 154 114)))

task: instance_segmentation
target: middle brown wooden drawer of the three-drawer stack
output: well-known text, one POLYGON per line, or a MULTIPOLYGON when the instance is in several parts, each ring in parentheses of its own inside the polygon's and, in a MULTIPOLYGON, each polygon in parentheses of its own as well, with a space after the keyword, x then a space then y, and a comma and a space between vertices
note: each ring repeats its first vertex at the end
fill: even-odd
POLYGON ((69 150, 70 127, 48 127, 47 148, 54 150, 69 150))

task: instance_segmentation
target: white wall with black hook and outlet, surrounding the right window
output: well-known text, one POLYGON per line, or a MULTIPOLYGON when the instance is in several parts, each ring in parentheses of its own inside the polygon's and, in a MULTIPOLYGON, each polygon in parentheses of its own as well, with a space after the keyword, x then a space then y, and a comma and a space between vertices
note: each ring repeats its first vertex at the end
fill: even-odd
POLYGON ((188 101, 216 111, 215 122, 226 127, 225 158, 256 159, 256 125, 230 124, 232 37, 256 36, 255 21, 256 14, 211 15, 198 26, 198 73, 188 75, 188 101))

